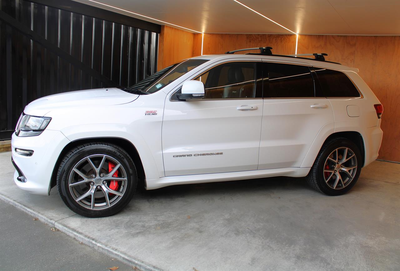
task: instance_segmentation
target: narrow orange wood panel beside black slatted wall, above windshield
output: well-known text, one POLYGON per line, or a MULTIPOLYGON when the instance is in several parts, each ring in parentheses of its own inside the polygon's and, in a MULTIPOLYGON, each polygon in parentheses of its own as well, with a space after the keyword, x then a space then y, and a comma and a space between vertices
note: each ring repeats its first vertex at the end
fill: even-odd
POLYGON ((157 70, 192 57, 193 38, 193 33, 170 26, 161 26, 157 70))

